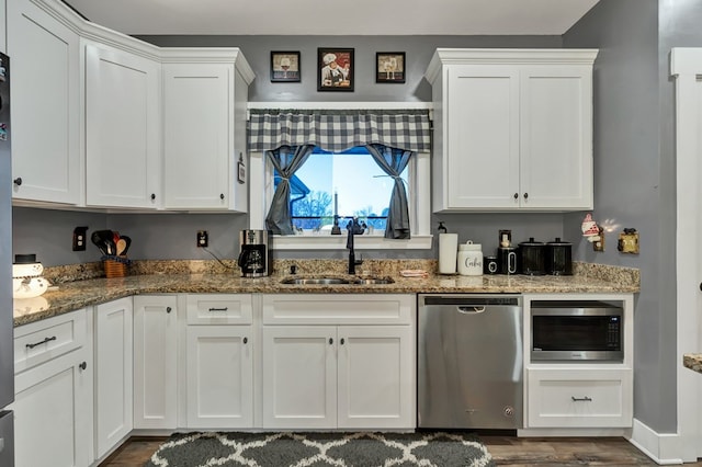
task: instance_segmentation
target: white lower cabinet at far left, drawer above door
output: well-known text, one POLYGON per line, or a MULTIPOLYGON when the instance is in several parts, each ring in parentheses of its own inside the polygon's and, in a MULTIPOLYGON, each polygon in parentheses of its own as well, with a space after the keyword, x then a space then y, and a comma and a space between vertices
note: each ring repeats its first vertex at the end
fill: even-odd
POLYGON ((10 409, 18 467, 92 462, 93 371, 87 322, 81 309, 14 330, 21 351, 15 352, 10 409))

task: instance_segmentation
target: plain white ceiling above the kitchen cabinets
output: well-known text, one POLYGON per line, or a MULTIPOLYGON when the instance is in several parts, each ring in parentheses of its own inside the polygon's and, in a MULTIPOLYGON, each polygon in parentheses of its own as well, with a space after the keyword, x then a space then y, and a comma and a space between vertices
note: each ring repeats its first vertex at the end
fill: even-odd
POLYGON ((599 0, 64 0, 129 35, 562 35, 599 0))

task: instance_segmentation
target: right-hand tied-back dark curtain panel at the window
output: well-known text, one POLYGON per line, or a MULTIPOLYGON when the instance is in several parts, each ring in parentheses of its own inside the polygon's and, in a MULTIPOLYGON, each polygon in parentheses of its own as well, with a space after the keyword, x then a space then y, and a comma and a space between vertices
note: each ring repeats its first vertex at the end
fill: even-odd
POLYGON ((409 239, 409 206, 407 203, 407 191, 405 183, 399 176, 409 163, 411 151, 390 148, 383 145, 367 145, 365 147, 373 160, 381 169, 395 180, 390 204, 387 213, 387 226, 385 227, 385 238, 409 239))

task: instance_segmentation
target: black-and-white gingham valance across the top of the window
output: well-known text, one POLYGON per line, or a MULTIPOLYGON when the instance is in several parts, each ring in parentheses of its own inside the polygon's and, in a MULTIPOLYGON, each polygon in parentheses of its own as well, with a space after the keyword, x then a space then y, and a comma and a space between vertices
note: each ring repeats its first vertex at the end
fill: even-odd
POLYGON ((341 151, 371 144, 428 152, 431 148, 429 112, 251 110, 250 113, 250 151, 302 145, 341 151))

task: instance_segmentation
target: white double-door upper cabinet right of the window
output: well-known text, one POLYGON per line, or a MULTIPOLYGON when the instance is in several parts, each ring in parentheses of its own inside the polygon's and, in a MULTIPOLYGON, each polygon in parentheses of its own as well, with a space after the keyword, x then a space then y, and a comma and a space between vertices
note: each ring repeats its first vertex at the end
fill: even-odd
POLYGON ((591 209, 596 56, 437 49, 433 210, 591 209))

